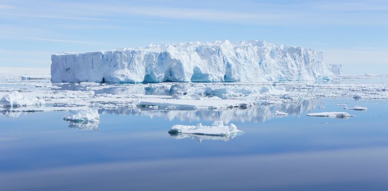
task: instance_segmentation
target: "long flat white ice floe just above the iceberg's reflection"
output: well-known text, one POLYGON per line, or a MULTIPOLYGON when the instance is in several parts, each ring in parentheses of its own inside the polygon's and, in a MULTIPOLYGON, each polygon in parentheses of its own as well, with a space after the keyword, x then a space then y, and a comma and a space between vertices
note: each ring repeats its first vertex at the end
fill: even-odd
POLYGON ((144 98, 134 102, 137 106, 158 106, 161 108, 176 107, 190 109, 215 109, 215 108, 247 108, 253 106, 252 102, 226 99, 159 99, 144 98))

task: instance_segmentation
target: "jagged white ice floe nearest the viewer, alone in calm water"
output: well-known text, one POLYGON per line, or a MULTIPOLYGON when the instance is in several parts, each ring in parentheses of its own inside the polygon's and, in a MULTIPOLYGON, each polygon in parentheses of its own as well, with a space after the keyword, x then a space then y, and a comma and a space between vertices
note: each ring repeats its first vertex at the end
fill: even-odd
POLYGON ((226 136, 231 133, 240 133, 241 130, 237 129, 234 124, 229 124, 224 126, 222 121, 215 121, 211 126, 203 126, 199 123, 196 126, 184 126, 184 125, 174 125, 171 127, 169 133, 185 133, 185 134, 195 134, 195 135, 216 135, 216 136, 226 136))

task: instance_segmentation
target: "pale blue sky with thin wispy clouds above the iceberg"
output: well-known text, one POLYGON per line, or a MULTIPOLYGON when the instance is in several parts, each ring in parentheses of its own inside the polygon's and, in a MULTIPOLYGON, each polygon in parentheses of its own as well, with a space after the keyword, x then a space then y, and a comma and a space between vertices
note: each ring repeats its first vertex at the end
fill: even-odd
POLYGON ((325 63, 388 69, 388 1, 0 0, 0 67, 49 67, 51 54, 63 51, 226 39, 312 48, 325 63))

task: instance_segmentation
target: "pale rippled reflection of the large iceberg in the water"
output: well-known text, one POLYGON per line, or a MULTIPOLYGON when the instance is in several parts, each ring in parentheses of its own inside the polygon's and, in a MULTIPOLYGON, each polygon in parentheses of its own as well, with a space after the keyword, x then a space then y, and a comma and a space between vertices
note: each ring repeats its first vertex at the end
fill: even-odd
POLYGON ((103 110, 102 113, 119 115, 143 115, 149 117, 164 117, 170 121, 230 121, 239 122, 265 122, 274 118, 275 111, 286 112, 289 115, 301 115, 303 112, 312 111, 316 108, 316 101, 304 100, 298 103, 283 103, 277 105, 256 105, 248 109, 225 109, 225 110, 149 110, 127 109, 103 110))

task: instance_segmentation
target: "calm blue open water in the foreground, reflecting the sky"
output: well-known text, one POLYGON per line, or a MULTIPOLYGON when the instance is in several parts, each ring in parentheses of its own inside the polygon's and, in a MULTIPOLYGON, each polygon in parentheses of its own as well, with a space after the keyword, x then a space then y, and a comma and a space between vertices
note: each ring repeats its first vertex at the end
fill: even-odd
POLYGON ((100 110, 89 130, 62 120, 67 112, 3 114, 0 190, 388 190, 387 106, 328 98, 247 110, 100 110), (336 106, 344 103, 368 111, 306 116, 344 111, 336 106), (269 113, 279 108, 289 116, 269 113), (176 124, 216 120, 244 133, 168 133, 176 124))

